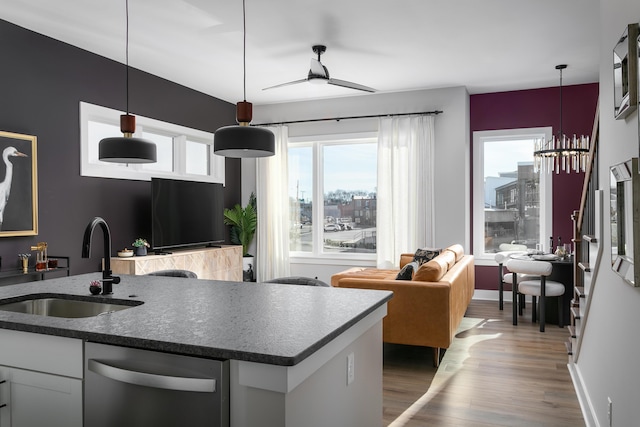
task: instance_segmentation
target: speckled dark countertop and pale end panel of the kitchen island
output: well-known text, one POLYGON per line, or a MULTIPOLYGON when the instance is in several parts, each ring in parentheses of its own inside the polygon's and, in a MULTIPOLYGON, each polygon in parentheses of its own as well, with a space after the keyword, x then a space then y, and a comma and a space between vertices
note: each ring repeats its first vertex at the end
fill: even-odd
MULTIPOLYGON (((99 277, 4 286, 0 304, 26 294, 88 296, 90 281, 99 277)), ((382 318, 391 296, 386 291, 122 276, 113 295, 91 298, 141 305, 74 319, 0 310, 0 329, 7 330, 0 333, 228 360, 233 427, 375 426, 382 425, 382 318)), ((4 353, 10 353, 5 344, 0 365, 4 353)))

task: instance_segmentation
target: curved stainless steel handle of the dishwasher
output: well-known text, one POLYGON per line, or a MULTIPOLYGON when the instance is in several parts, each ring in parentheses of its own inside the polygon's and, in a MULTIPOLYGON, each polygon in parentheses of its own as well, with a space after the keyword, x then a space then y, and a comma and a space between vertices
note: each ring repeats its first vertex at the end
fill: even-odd
POLYGON ((96 359, 89 359, 87 367, 90 371, 103 377, 143 387, 203 393, 215 393, 216 391, 216 380, 213 378, 176 377, 132 371, 96 359))

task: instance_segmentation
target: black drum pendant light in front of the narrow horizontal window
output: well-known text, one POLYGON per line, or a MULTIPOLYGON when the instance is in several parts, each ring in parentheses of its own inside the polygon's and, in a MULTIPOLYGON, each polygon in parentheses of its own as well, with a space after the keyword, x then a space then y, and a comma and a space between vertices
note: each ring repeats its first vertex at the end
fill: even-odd
POLYGON ((142 138, 134 138, 136 116, 129 114, 129 0, 126 0, 126 90, 127 113, 120 116, 120 131, 124 136, 104 138, 98 144, 98 158, 111 163, 155 163, 156 145, 142 138))

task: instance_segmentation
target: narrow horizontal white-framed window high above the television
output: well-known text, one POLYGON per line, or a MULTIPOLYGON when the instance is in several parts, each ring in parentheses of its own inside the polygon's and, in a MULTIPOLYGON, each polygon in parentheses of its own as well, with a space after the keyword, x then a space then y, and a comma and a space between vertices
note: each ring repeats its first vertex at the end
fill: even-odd
POLYGON ((224 184, 224 157, 213 154, 213 134, 136 115, 136 133, 156 144, 156 163, 108 163, 98 159, 101 139, 122 136, 119 111, 80 103, 80 174, 149 181, 151 177, 224 184))

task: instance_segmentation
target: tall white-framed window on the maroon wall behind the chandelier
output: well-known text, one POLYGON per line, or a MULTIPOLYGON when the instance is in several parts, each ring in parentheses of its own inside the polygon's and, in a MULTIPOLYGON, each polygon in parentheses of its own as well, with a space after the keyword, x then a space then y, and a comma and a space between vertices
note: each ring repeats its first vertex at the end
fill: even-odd
POLYGON ((551 128, 473 133, 473 249, 479 265, 491 264, 503 243, 548 245, 552 179, 534 171, 533 151, 535 140, 550 137, 551 128))

